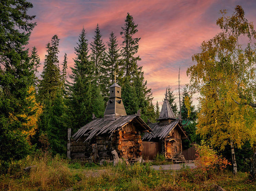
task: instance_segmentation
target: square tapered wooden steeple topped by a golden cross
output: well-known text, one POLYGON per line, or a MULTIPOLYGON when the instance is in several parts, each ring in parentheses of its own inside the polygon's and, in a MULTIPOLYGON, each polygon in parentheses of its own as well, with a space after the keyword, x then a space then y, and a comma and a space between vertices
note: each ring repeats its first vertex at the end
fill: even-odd
POLYGON ((110 96, 104 113, 104 121, 116 120, 121 115, 126 115, 125 107, 121 98, 121 87, 116 83, 109 87, 110 96))

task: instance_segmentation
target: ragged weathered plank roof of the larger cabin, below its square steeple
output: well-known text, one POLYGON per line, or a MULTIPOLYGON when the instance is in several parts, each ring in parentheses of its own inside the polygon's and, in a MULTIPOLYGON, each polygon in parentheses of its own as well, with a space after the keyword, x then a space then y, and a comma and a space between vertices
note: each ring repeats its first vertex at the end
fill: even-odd
POLYGON ((137 124, 138 129, 141 129, 141 131, 149 130, 149 132, 152 132, 151 128, 138 115, 126 115, 120 116, 113 121, 104 121, 104 118, 94 119, 90 123, 81 127, 72 137, 75 140, 79 140, 81 136, 88 134, 89 136, 85 141, 92 139, 95 135, 105 133, 110 134, 110 137, 115 130, 119 131, 131 121, 137 124))

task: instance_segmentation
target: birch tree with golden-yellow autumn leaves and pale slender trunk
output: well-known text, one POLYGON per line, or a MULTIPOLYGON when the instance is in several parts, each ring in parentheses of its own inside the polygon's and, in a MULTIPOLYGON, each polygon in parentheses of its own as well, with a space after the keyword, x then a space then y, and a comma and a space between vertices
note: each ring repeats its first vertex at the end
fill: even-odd
POLYGON ((222 31, 202 42, 201 52, 192 56, 196 64, 187 69, 187 75, 190 91, 200 93, 197 131, 220 149, 230 145, 236 174, 234 147, 241 148, 247 140, 253 145, 256 140, 252 104, 256 33, 241 6, 235 7, 232 16, 226 10, 220 13, 217 25, 222 31))

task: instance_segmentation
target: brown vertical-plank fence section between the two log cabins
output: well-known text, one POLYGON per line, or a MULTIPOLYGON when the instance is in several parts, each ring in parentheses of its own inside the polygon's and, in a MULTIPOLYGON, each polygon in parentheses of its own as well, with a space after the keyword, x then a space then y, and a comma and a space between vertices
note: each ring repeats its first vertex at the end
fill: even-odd
POLYGON ((143 149, 143 159, 154 159, 156 154, 160 153, 160 143, 159 142, 149 142, 149 141, 142 141, 142 145, 144 146, 143 149))

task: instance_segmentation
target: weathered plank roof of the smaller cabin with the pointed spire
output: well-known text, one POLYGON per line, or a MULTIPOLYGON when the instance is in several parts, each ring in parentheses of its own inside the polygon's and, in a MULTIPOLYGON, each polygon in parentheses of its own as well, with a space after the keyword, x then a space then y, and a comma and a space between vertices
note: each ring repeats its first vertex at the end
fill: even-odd
POLYGON ((162 139, 165 138, 176 126, 181 129, 182 137, 188 137, 184 127, 182 126, 181 122, 179 121, 172 121, 168 125, 160 125, 159 123, 151 123, 148 126, 152 129, 152 134, 146 133, 143 135, 143 141, 150 141, 151 139, 162 139))

